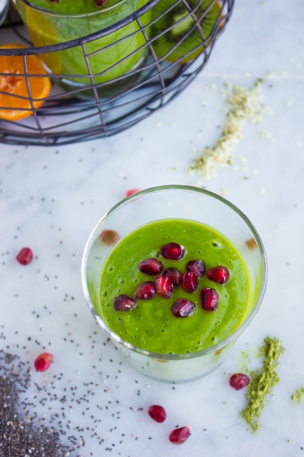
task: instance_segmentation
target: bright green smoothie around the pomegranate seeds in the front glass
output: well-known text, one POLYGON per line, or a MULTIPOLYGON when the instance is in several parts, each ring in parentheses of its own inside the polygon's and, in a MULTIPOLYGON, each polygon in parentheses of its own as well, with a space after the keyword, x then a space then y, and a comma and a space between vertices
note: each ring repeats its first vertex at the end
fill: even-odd
POLYGON ((100 279, 98 309, 108 327, 133 345, 151 352, 183 354, 208 348, 229 337, 249 313, 250 282, 247 267, 236 247, 214 228, 185 219, 163 219, 139 227, 120 240, 106 258, 100 279), (184 246, 181 259, 164 258, 160 248, 167 243, 184 246), (171 298, 155 295, 150 300, 136 300, 129 311, 117 311, 116 298, 127 295, 134 298, 137 286, 144 281, 155 281, 139 270, 147 258, 157 258, 164 270, 175 267, 182 273, 190 260, 201 259, 206 271, 217 266, 229 270, 229 280, 219 284, 199 277, 199 288, 186 292, 180 285, 174 287, 171 298), (203 288, 218 293, 214 311, 206 311, 200 302, 203 288), (187 317, 176 317, 171 311, 178 299, 186 299, 196 306, 187 317))

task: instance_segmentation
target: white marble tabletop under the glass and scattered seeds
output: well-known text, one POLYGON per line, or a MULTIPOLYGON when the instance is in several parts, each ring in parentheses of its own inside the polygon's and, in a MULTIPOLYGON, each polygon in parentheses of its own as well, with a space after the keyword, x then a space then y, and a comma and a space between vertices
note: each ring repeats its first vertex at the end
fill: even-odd
POLYGON ((31 366, 43 349, 54 354, 50 370, 33 370, 27 395, 35 396, 34 382, 45 383, 37 398, 49 400, 45 406, 35 400, 36 410, 47 425, 59 429, 62 421, 63 442, 76 437, 80 448, 71 455, 304 456, 304 402, 290 398, 304 385, 303 19, 302 0, 237 0, 207 67, 166 108, 109 139, 1 145, 0 348, 31 366), (263 93, 273 114, 246 125, 231 167, 210 180, 189 175, 198 150, 218 137, 224 82, 252 87, 269 72, 263 93), (83 248, 100 216, 130 188, 173 183, 205 186, 239 206, 260 233, 269 263, 261 309, 231 357, 209 376, 178 385, 133 371, 105 343, 80 279, 83 248), (26 267, 15 260, 23 246, 35 256, 26 267), (281 380, 252 434, 240 418, 245 390, 233 390, 228 379, 244 369, 242 351, 250 355, 249 370, 259 366, 256 350, 268 335, 286 348, 281 380), (54 392, 66 403, 51 401, 54 392), (167 409, 163 424, 147 415, 153 403, 167 409), (181 446, 168 441, 176 425, 192 429, 181 446))

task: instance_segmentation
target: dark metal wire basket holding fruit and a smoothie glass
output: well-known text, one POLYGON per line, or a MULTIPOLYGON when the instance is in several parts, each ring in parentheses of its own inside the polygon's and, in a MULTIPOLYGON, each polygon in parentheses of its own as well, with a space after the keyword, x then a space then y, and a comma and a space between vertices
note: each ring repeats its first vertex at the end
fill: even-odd
MULTIPOLYGON (((204 37, 197 7, 191 9, 187 0, 171 2, 172 7, 183 4, 189 17, 194 19, 192 28, 187 34, 191 34, 194 29, 197 29, 201 35, 201 43, 195 49, 197 51, 195 58, 192 58, 194 55, 192 49, 191 52, 185 52, 185 55, 174 59, 174 61, 170 61, 171 51, 162 56, 158 56, 155 52, 156 40, 160 35, 166 34, 169 28, 159 35, 151 35, 151 27, 155 26, 158 18, 152 17, 148 22, 143 20, 146 18, 146 14, 162 1, 149 0, 133 14, 93 34, 72 41, 41 47, 32 45, 31 37, 27 34, 20 17, 16 17, 15 12, 13 11, 12 14, 11 11, 6 23, 2 25, 0 42, 3 41, 4 34, 7 36, 9 31, 13 37, 18 39, 19 43, 22 40, 27 47, 0 48, 0 57, 5 55, 22 56, 24 73, 7 73, 0 68, 0 77, 25 78, 28 93, 21 98, 28 100, 31 115, 22 120, 1 119, 0 142, 15 145, 54 146, 108 137, 131 127, 173 100, 204 68, 216 39, 224 30, 231 16, 234 0, 214 0, 212 2, 212 4, 220 5, 220 14, 208 37, 204 37), (141 34, 141 37, 144 37, 140 46, 140 52, 145 56, 144 60, 141 60, 140 66, 131 69, 126 74, 100 82, 98 76, 102 73, 92 72, 89 59, 101 48, 99 46, 100 49, 90 52, 89 45, 92 43, 99 44, 100 39, 114 32, 118 33, 117 36, 119 37, 120 30, 129 24, 136 24, 136 31, 132 32, 133 34, 141 34), (48 96, 42 99, 43 104, 39 108, 35 108, 36 100, 32 96, 29 82, 37 77, 46 78, 46 75, 28 72, 28 56, 52 55, 52 58, 56 58, 63 51, 72 53, 74 49, 79 50, 80 47, 87 63, 87 72, 73 75, 49 73, 47 77, 51 79, 51 91, 48 96), (191 54, 191 60, 187 61, 189 54, 191 54), (78 81, 84 77, 86 77, 86 84, 66 83, 66 81, 78 81)), ((201 0, 197 2, 197 6, 200 4, 201 0)), ((130 39, 131 36, 132 34, 129 34, 127 38, 130 39)), ((120 37, 117 42, 112 42, 111 46, 115 46, 119 41, 127 38, 120 37)), ((181 40, 183 39, 184 37, 181 40)), ((175 48, 179 44, 177 42, 175 48)), ((136 52, 139 52, 138 49, 136 52)), ((134 53, 135 51, 131 50, 124 59, 132 57, 134 53)), ((122 65, 124 59, 118 60, 115 65, 122 65)), ((0 95, 7 94, 1 89, 3 88, 0 84, 0 95)), ((9 95, 12 97, 11 104, 14 106, 14 97, 17 103, 20 95, 14 93, 9 95)), ((7 108, 0 106, 0 110, 2 109, 7 108)), ((24 110, 24 108, 19 109, 20 111, 24 110)))

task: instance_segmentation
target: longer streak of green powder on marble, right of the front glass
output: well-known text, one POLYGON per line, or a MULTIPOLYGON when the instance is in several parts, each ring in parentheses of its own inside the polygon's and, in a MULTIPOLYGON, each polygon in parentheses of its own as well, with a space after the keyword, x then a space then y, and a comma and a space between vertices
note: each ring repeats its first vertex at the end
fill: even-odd
POLYGON ((264 339, 263 366, 251 373, 251 381, 246 394, 247 406, 241 412, 241 416, 248 422, 253 432, 259 429, 259 417, 265 406, 265 397, 271 393, 271 389, 280 380, 276 367, 282 352, 284 352, 284 348, 277 338, 264 339))

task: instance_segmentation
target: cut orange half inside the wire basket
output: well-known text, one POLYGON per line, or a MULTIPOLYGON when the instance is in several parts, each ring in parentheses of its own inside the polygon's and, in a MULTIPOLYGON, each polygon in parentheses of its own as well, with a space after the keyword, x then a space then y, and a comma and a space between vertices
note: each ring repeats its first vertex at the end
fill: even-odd
MULTIPOLYGON (((0 49, 13 48, 25 48, 25 46, 19 44, 0 46, 0 49)), ((13 121, 30 116, 33 107, 39 108, 50 93, 51 80, 39 57, 27 55, 26 66, 27 70, 24 68, 22 55, 0 55, 0 73, 8 74, 0 75, 0 119, 13 121), (29 90, 27 78, 22 76, 25 74, 28 75, 29 90)))

